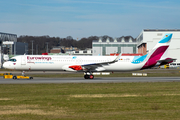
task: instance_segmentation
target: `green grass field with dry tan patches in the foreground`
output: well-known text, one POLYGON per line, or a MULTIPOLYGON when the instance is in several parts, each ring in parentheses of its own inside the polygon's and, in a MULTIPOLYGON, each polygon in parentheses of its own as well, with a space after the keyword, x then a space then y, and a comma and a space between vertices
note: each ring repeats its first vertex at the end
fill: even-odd
POLYGON ((0 120, 172 120, 180 82, 2 84, 0 120))

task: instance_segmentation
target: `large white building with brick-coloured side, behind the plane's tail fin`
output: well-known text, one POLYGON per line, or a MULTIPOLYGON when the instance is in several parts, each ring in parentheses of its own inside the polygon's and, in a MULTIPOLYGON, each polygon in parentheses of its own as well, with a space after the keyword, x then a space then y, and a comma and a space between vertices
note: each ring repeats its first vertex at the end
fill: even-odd
POLYGON ((171 65, 180 65, 180 29, 144 29, 136 38, 138 53, 147 54, 153 49, 159 40, 166 34, 172 33, 170 47, 167 57, 177 59, 171 65))

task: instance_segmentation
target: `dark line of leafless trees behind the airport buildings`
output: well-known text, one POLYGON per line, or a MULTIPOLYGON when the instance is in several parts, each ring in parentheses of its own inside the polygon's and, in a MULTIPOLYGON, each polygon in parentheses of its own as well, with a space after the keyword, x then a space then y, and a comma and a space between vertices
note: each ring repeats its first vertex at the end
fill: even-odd
MULTIPOLYGON (((81 38, 80 40, 75 40, 71 36, 66 38, 60 37, 49 37, 49 36, 19 36, 17 38, 18 42, 28 43, 28 53, 32 54, 32 44, 33 44, 33 53, 42 54, 45 53, 47 48, 48 52, 55 46, 65 46, 65 47, 77 47, 78 49, 92 48, 92 41, 99 40, 98 36, 90 36, 88 38, 81 38)), ((109 38, 112 40, 112 37, 107 35, 101 36, 102 40, 109 38)), ((120 38, 117 38, 120 39, 120 38)))

